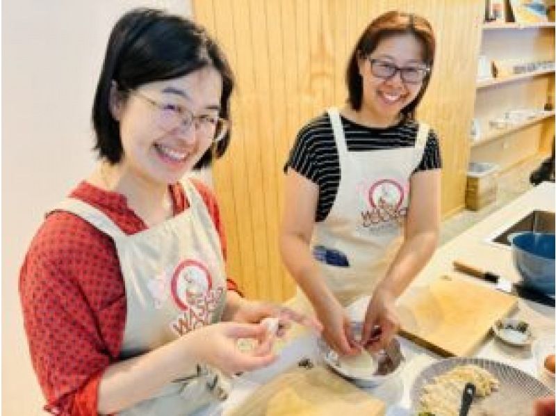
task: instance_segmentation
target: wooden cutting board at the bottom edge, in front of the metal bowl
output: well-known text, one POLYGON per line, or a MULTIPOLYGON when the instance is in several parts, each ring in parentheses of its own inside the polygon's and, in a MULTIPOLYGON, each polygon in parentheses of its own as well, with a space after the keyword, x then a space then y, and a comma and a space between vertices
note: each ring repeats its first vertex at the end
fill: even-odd
POLYGON ((229 416, 383 416, 385 412, 382 401, 318 366, 280 374, 229 416))

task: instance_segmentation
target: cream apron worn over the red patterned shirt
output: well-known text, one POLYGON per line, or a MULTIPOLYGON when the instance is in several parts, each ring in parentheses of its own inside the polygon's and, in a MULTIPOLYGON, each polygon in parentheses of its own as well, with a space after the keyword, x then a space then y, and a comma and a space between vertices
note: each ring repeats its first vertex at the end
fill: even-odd
MULTIPOLYGON (((218 232, 195 186, 189 181, 183 186, 188 209, 132 235, 81 200, 67 198, 56 207, 80 216, 115 243, 127 303, 122 359, 156 349, 222 316, 226 279, 218 232)), ((215 403, 222 393, 218 371, 200 366, 197 373, 200 376, 170 383, 152 399, 119 414, 190 415, 215 403)))

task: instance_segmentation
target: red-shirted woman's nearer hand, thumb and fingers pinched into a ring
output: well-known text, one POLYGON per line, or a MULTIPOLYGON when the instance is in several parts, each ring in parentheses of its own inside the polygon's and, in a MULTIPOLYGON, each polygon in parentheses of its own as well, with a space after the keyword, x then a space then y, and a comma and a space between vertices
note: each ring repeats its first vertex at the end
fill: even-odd
POLYGON ((186 336, 194 345, 200 362, 216 367, 227 375, 266 367, 276 360, 272 353, 275 335, 260 323, 219 322, 197 328, 186 336), (238 349, 238 339, 256 339, 259 343, 251 352, 238 349))

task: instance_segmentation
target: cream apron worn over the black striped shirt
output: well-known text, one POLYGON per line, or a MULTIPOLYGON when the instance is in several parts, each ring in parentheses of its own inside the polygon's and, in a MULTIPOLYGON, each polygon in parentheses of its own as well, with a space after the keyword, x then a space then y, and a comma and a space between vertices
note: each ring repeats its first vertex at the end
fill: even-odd
POLYGON ((429 127, 419 125, 414 147, 348 152, 338 109, 328 115, 340 184, 327 218, 315 225, 311 250, 322 278, 346 306, 373 293, 400 248, 409 179, 423 158, 429 127))

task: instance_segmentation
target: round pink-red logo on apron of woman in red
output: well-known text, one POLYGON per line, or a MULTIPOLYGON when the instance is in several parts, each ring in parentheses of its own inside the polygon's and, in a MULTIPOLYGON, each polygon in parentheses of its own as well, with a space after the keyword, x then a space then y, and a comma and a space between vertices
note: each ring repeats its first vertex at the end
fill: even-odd
POLYGON ((174 271, 170 290, 179 308, 187 310, 195 298, 206 296, 212 287, 211 273, 206 266, 197 260, 187 259, 174 271))

